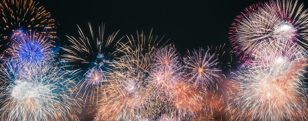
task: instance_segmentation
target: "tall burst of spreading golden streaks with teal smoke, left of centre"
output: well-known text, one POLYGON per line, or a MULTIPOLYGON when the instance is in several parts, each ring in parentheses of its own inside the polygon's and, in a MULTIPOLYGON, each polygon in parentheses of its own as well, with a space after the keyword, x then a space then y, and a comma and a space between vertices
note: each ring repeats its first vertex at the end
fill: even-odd
MULTIPOLYGON (((99 88, 109 77, 111 70, 110 61, 116 55, 116 35, 118 32, 107 36, 104 35, 105 25, 99 26, 98 35, 94 34, 89 24, 90 36, 87 36, 79 28, 79 37, 67 36, 70 46, 62 49, 63 61, 69 63, 66 67, 72 68, 72 73, 81 81, 77 91, 85 99, 84 104, 97 105, 99 88), (83 75, 83 76, 78 76, 83 75)), ((92 112, 89 110, 89 112, 92 112)))

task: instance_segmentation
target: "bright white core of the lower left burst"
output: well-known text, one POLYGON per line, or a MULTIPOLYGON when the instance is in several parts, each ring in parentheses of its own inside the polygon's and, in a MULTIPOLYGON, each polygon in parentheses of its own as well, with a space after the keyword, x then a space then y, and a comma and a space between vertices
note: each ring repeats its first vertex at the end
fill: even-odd
POLYGON ((18 101, 32 100, 36 101, 47 93, 48 86, 40 83, 29 81, 16 81, 16 85, 12 89, 11 96, 18 101))

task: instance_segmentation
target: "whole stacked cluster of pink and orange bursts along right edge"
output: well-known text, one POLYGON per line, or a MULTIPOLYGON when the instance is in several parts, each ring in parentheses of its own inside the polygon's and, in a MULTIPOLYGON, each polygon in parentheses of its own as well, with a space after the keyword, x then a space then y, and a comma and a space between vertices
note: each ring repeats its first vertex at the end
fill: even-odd
POLYGON ((236 17, 230 40, 248 62, 230 78, 231 120, 307 120, 307 15, 297 1, 270 1, 236 17))

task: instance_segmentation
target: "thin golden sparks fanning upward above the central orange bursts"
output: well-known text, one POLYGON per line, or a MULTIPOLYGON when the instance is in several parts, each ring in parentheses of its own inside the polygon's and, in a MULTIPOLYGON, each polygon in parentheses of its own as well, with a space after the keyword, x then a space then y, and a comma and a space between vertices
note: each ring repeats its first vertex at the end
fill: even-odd
POLYGON ((137 37, 133 35, 126 35, 127 43, 120 43, 120 53, 123 55, 119 58, 117 67, 129 67, 149 75, 153 67, 153 53, 155 48, 163 46, 163 37, 154 36, 151 30, 150 34, 146 36, 142 31, 137 31, 137 37))

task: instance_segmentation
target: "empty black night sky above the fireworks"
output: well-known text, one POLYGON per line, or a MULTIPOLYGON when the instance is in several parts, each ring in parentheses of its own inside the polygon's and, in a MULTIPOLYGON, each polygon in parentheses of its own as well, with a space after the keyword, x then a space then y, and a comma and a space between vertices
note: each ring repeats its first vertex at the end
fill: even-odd
MULTIPOLYGON (((61 41, 65 35, 78 35, 77 24, 87 30, 87 23, 96 27, 105 23, 106 33, 120 30, 119 35, 135 35, 136 30, 165 35, 165 39, 182 51, 228 42, 233 19, 245 8, 261 1, 39 1, 60 24, 61 41)), ((299 3, 303 3, 300 0, 299 3)), ((308 2, 304 3, 307 8, 308 2)))

